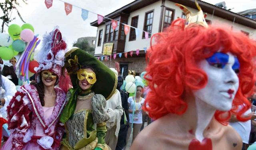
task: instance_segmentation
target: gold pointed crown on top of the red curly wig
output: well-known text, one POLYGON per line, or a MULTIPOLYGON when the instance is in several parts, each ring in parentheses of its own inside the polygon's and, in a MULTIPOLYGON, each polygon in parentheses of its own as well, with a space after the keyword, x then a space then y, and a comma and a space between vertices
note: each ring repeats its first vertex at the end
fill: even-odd
POLYGON ((201 7, 199 6, 197 0, 195 0, 196 3, 196 7, 198 8, 199 12, 193 14, 192 12, 190 12, 190 10, 188 10, 188 8, 186 8, 186 6, 181 5, 181 4, 175 4, 176 6, 179 6, 180 9, 185 13, 186 15, 186 24, 185 24, 185 28, 187 28, 188 26, 193 26, 194 24, 198 24, 200 26, 204 26, 204 27, 208 27, 208 24, 206 23, 206 16, 207 14, 204 14, 201 7))

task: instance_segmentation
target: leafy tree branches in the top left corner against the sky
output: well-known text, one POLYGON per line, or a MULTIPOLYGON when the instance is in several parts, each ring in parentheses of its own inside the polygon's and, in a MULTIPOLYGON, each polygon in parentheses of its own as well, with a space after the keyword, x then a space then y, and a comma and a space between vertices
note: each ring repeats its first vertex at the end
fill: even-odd
MULTIPOLYGON (((20 12, 18 11, 18 9, 16 8, 16 6, 20 6, 20 4, 17 2, 18 0, 5 0, 5 2, 1 2, 0 3, 0 7, 4 13, 3 16, 0 17, 0 20, 2 20, 2 32, 4 32, 4 24, 6 24, 6 26, 8 26, 9 22, 11 22, 12 20, 14 20, 16 17, 12 18, 12 11, 16 10, 16 12, 18 13, 18 16, 20 17, 20 19, 26 23, 21 15, 20 12), (15 6, 16 5, 16 6, 15 6)), ((24 0, 22 0, 22 2, 24 2, 25 4, 27 4, 24 0)))

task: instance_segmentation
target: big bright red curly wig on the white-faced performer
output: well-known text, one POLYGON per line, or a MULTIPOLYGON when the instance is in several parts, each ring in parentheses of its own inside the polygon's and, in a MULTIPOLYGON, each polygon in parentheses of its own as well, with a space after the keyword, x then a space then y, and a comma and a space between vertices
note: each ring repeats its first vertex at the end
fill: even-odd
POLYGON ((184 28, 183 19, 175 20, 165 32, 153 37, 156 44, 151 44, 147 51, 145 77, 151 91, 144 110, 149 112, 150 117, 157 119, 168 113, 186 112, 188 106, 183 100, 184 93, 204 88, 208 82, 206 73, 198 68, 198 62, 221 49, 224 53, 236 55, 240 62, 239 88, 232 109, 228 112, 217 110, 214 116, 222 124, 227 124, 231 114, 235 114, 240 121, 249 119, 242 118, 242 114, 251 106, 247 97, 252 94, 255 82, 254 41, 231 28, 204 28, 198 25, 184 28), (238 105, 244 107, 238 111, 238 105))

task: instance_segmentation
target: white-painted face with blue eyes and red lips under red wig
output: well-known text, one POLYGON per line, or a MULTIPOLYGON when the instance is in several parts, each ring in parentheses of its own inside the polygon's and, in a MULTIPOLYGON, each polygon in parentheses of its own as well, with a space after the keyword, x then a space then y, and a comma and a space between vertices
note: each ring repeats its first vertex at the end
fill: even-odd
POLYGON ((193 91, 195 98, 217 110, 230 110, 239 86, 237 58, 230 53, 217 52, 202 60, 199 68, 207 74, 208 82, 204 88, 193 91))

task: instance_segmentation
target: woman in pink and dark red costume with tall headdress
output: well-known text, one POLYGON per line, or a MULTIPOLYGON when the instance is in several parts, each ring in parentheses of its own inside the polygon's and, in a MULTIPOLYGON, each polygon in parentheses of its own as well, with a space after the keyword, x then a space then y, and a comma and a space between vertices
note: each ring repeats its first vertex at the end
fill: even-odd
POLYGON ((54 88, 61 78, 66 43, 58 28, 43 39, 36 84, 21 87, 7 107, 10 137, 2 150, 58 150, 64 134, 59 116, 66 94, 54 88))

